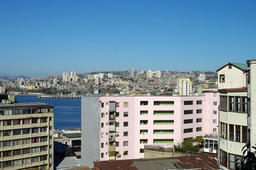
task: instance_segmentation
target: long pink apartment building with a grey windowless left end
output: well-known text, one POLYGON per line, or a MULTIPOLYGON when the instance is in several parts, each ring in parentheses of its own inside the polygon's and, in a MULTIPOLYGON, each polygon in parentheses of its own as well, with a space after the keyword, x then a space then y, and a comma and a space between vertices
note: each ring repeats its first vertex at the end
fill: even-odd
POLYGON ((145 144, 173 146, 218 133, 218 93, 199 97, 83 97, 82 165, 144 157, 145 144))

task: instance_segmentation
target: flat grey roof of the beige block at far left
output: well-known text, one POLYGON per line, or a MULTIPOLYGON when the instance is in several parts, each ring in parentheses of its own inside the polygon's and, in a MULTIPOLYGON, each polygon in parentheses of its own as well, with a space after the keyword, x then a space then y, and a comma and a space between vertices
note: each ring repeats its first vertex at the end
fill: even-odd
POLYGON ((0 109, 10 109, 16 107, 53 107, 50 104, 40 102, 16 103, 16 104, 0 104, 0 109))

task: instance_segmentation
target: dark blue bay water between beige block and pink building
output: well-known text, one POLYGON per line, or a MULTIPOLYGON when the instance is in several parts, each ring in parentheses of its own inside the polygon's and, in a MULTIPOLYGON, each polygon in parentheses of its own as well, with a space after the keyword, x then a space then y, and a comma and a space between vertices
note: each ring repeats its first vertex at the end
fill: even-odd
POLYGON ((18 103, 42 102, 54 106, 54 129, 81 127, 81 98, 15 96, 18 103))

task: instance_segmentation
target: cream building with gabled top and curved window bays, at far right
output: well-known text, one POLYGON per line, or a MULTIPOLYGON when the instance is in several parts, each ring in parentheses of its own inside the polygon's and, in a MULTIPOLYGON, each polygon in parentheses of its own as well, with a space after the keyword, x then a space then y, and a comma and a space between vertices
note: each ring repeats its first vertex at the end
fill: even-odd
POLYGON ((248 136, 252 144, 256 142, 252 133, 255 132, 252 122, 255 111, 249 114, 250 99, 255 98, 255 61, 248 61, 248 65, 249 68, 245 64, 227 63, 216 70, 220 95, 220 169, 236 169, 237 161, 243 156, 243 146, 250 142, 248 136), (251 73, 251 82, 248 73, 251 73), (251 135, 248 135, 248 122, 252 123, 251 135))

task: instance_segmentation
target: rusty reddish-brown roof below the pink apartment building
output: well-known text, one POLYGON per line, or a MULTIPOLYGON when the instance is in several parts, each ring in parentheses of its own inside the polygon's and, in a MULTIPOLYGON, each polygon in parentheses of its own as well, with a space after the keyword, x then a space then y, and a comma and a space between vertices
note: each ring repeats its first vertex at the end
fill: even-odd
POLYGON ((99 169, 218 169, 216 155, 192 155, 172 158, 150 158, 113 161, 95 161, 99 169))

